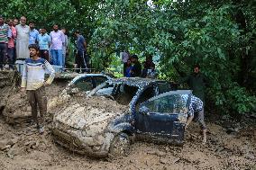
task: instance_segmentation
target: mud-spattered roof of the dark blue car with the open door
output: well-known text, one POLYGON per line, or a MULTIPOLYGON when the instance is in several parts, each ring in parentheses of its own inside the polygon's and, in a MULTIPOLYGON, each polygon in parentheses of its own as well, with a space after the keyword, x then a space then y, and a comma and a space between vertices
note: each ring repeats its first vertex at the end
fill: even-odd
POLYGON ((167 83, 164 80, 152 79, 152 78, 142 78, 142 77, 122 77, 115 78, 107 81, 110 84, 124 84, 142 87, 145 85, 150 85, 154 83, 167 83))

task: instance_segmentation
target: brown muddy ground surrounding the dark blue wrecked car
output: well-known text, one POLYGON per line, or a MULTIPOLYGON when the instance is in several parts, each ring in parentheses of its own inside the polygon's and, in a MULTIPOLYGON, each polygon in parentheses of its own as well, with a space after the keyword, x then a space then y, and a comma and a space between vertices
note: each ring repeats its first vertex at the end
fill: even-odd
MULTIPOLYGON (((14 82, 3 81, 7 80, 0 80, 0 103, 4 98, 12 100, 10 93, 19 93, 12 87, 14 82)), ((58 96, 64 86, 65 82, 55 82, 48 87, 49 100, 58 96)), ((192 123, 183 147, 136 141, 129 156, 104 159, 81 156, 55 144, 51 117, 48 113, 46 131, 39 135, 29 121, 10 125, 0 115, 0 169, 256 169, 256 122, 250 114, 235 121, 206 113, 205 146, 201 145, 197 123, 192 123)))

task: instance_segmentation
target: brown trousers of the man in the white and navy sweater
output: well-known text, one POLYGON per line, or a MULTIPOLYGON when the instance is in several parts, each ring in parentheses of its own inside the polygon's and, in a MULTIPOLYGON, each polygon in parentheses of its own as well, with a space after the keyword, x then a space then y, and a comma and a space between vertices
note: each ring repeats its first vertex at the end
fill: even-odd
POLYGON ((29 103, 32 107, 32 119, 37 125, 43 126, 44 115, 47 112, 47 98, 45 88, 42 86, 37 90, 27 90, 29 103), (37 105, 39 106, 40 116, 38 116, 37 105))

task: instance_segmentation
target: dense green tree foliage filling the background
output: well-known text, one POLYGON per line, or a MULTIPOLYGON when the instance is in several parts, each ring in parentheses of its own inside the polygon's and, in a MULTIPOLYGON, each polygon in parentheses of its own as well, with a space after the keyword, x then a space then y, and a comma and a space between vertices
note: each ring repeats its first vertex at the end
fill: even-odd
POLYGON ((211 81, 209 103, 221 112, 255 110, 253 0, 15 0, 3 6, 9 17, 26 15, 38 25, 59 22, 85 32, 97 67, 108 67, 123 49, 141 58, 160 56, 165 79, 177 80, 200 63, 211 81))

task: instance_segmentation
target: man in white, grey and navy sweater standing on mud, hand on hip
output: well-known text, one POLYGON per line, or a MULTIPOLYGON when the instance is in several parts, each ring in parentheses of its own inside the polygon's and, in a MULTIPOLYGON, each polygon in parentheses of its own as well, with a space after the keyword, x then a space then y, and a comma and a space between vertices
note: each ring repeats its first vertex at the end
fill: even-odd
POLYGON ((50 85, 54 78, 54 69, 50 66, 50 63, 39 57, 39 47, 36 44, 29 46, 30 57, 25 60, 23 67, 22 78, 22 91, 26 90, 29 103, 32 107, 32 118, 37 124, 39 133, 42 134, 44 129, 43 116, 47 112, 47 98, 45 96, 45 86, 50 85), (46 70, 50 73, 50 76, 45 80, 46 70), (40 117, 38 117, 37 105, 40 110, 40 117))

